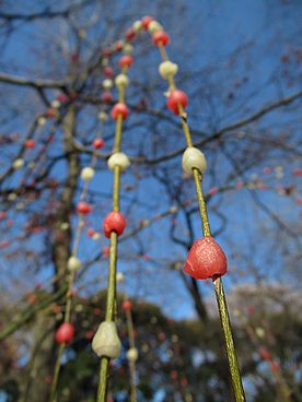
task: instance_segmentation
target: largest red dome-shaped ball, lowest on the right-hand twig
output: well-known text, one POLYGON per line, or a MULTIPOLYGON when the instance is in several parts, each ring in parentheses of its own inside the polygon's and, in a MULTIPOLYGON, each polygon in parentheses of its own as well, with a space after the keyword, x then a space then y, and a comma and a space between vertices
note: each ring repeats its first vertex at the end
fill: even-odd
POLYGON ((207 236, 194 241, 184 270, 196 280, 214 280, 225 274, 226 257, 214 239, 207 236))

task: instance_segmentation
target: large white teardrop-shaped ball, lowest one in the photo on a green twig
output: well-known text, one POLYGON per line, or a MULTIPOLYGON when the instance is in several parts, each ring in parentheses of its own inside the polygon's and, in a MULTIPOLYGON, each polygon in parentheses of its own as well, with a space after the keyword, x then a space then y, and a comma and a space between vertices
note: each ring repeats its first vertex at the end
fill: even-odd
POLYGON ((100 324, 92 340, 92 350, 98 357, 116 358, 120 352, 120 341, 114 322, 104 321, 100 324))

